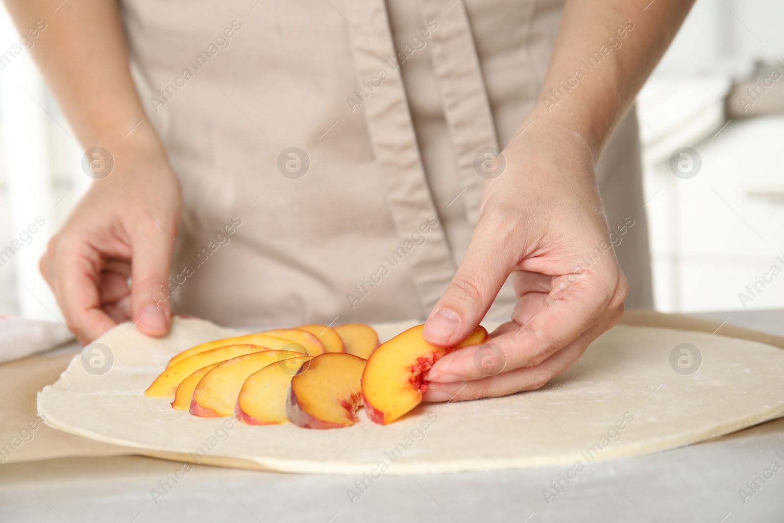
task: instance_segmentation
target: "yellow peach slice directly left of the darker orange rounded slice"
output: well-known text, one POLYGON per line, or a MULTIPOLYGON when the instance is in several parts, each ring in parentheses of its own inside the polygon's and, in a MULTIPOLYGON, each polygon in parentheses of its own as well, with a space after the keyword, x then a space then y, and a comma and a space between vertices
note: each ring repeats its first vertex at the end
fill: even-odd
POLYGON ((249 425, 289 423, 286 417, 289 386, 299 368, 310 359, 310 356, 287 358, 253 372, 242 385, 234 415, 249 425))

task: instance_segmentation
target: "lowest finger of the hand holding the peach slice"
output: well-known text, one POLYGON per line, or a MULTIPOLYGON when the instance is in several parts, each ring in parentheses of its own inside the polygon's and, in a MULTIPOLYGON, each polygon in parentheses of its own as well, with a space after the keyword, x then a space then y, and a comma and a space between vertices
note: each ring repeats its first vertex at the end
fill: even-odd
POLYGON ((538 389, 577 361, 594 339, 593 333, 586 332, 539 365, 487 376, 483 380, 428 383, 422 400, 437 402, 498 398, 523 390, 538 389))

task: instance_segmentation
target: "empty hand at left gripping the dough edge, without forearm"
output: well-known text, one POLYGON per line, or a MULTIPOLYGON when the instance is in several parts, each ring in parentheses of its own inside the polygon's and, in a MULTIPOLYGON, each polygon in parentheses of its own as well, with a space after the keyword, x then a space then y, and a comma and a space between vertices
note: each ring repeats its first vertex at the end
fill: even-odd
POLYGON ((82 345, 122 321, 163 336, 171 318, 160 285, 180 227, 180 183, 162 147, 123 144, 110 152, 114 170, 93 182, 40 263, 82 345))

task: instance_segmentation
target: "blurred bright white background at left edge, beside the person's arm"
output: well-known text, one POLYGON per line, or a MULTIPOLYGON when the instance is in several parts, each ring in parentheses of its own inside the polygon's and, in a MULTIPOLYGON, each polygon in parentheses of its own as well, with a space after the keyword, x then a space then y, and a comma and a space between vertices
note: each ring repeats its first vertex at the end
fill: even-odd
POLYGON ((67 121, 30 53, 27 49, 16 53, 18 42, 19 35, 0 3, 0 54, 13 53, 0 71, 0 251, 21 245, 13 259, 0 267, 0 314, 61 319, 38 272, 38 260, 89 181, 79 168, 81 151, 67 121), (27 236, 20 240, 38 216, 45 225, 33 227, 38 230, 29 241, 27 236))

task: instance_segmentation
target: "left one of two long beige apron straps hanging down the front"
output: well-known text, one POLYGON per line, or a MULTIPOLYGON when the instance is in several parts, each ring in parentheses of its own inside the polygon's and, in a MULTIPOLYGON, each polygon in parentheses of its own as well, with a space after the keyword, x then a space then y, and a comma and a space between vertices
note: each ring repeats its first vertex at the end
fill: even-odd
MULTIPOLYGON (((343 5, 358 87, 365 92, 361 107, 356 109, 365 113, 376 162, 387 187, 392 220, 403 245, 438 214, 419 157, 400 69, 394 62, 397 53, 387 6, 384 0, 345 0, 343 5), (383 78, 380 86, 379 78, 383 78)), ((411 262, 412 278, 426 315, 456 271, 443 226, 434 227, 427 234, 427 241, 406 259, 411 262)))

